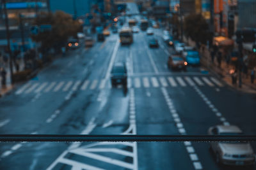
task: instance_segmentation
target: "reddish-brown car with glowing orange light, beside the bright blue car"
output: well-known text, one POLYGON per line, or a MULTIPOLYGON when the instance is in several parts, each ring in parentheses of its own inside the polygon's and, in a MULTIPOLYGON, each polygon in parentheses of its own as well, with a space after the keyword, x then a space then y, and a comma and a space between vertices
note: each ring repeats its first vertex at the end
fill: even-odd
POLYGON ((183 69, 187 70, 188 62, 184 60, 180 55, 171 55, 168 57, 167 66, 171 69, 183 69))

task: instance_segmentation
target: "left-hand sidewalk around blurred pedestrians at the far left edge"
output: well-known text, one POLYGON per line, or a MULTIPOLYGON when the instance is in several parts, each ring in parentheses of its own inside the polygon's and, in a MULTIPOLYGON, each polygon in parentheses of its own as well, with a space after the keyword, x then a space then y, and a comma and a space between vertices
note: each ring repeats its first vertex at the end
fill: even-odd
MULTIPOLYGON (((0 97, 6 95, 8 92, 10 92, 13 88, 14 85, 11 84, 11 73, 10 73, 10 66, 9 66, 9 61, 7 64, 3 64, 1 62, 0 66, 3 66, 6 70, 6 87, 4 88, 1 84, 2 77, 0 76, 0 97)), ((19 61, 19 71, 22 71, 24 69, 24 62, 22 59, 19 61)), ((13 64, 13 73, 16 73, 17 70, 13 64)))

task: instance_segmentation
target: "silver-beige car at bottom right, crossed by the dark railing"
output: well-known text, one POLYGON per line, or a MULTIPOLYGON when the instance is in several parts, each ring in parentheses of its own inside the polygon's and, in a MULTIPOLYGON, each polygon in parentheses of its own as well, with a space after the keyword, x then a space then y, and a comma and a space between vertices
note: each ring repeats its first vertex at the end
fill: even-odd
MULTIPOLYGON (((209 135, 240 135, 241 129, 236 125, 215 125, 208 130, 209 135)), ((250 143, 212 142, 211 150, 218 164, 232 166, 250 166, 255 163, 255 154, 250 143)))

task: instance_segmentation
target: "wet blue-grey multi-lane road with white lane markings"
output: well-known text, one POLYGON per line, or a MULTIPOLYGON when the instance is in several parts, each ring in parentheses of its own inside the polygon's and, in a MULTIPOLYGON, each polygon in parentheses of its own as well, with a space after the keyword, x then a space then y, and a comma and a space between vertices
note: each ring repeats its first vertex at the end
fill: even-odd
MULTIPOLYGON (((255 135, 255 94, 228 87, 202 67, 168 69, 173 48, 162 34, 163 29, 154 29, 153 36, 140 31, 134 43, 121 45, 111 32, 92 48, 81 43, 68 51, 0 99, 1 134, 203 135, 212 125, 232 124, 255 135), (148 47, 152 37, 159 48, 148 47), (122 86, 111 87, 115 62, 127 66, 127 94, 122 86)), ((0 143, 0 169, 234 169, 218 166, 209 146, 0 143)))

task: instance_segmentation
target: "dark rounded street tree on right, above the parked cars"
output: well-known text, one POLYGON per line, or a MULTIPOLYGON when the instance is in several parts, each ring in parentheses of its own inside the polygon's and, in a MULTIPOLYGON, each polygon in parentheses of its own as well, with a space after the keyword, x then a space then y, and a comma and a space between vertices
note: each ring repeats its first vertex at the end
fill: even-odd
POLYGON ((195 41, 196 46, 211 42, 212 34, 209 31, 209 25, 201 14, 191 14, 185 17, 184 32, 186 36, 195 41))

